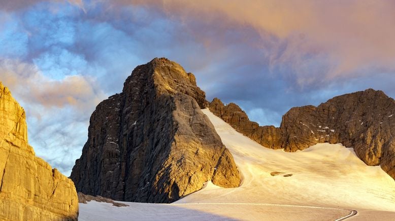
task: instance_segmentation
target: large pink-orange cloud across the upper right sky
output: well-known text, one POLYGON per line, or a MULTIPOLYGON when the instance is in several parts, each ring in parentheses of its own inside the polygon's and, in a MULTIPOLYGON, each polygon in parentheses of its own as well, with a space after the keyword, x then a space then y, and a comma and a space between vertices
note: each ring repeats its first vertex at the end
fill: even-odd
MULTIPOLYGON (((363 75, 362 70, 371 68, 395 70, 393 1, 115 0, 108 4, 153 7, 186 24, 211 23, 213 29, 250 26, 263 44, 273 46, 271 65, 290 65, 300 84, 315 75, 333 79, 363 75), (285 49, 276 50, 284 42, 285 49), (322 67, 311 71, 306 65, 317 59, 325 63, 321 72, 317 71, 322 67)), ((215 48, 215 42, 202 34, 210 30, 190 29, 196 39, 215 48)))

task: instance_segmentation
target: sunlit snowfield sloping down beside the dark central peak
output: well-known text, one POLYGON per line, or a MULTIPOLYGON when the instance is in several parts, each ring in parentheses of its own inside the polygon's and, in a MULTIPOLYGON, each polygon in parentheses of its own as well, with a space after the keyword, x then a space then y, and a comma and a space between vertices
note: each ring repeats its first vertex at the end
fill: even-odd
MULTIPOLYGON (((243 176, 239 188, 205 187, 172 204, 80 204, 80 220, 395 220, 395 181, 353 149, 320 143, 303 151, 271 150, 208 109, 243 176)), ((124 202, 123 202, 124 203, 124 202)))

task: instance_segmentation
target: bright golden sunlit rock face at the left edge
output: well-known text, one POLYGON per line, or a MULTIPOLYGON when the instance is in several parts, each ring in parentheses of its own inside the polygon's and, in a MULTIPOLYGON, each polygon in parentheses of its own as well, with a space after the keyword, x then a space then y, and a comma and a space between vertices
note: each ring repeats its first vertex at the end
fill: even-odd
POLYGON ((74 183, 35 156, 25 112, 0 82, 0 219, 77 220, 74 183))

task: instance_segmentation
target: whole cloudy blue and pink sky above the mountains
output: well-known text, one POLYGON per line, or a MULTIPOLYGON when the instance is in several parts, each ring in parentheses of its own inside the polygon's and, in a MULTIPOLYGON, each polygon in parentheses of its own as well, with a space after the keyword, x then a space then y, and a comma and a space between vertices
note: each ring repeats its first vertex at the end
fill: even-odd
POLYGON ((395 97, 395 2, 0 0, 0 81, 36 155, 70 175, 95 106, 167 57, 260 125, 373 88, 395 97))

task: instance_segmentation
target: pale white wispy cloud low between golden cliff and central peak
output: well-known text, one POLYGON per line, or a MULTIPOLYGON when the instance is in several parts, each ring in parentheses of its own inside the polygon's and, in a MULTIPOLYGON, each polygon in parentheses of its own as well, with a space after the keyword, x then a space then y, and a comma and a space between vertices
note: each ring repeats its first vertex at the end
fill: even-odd
MULTIPOLYGON (((30 104, 31 108, 41 113, 41 119, 27 116, 30 145, 37 156, 63 174, 70 175, 88 137, 89 114, 76 112, 72 106, 47 109, 30 104)), ((87 110, 88 113, 91 111, 87 110)))

